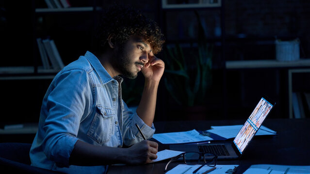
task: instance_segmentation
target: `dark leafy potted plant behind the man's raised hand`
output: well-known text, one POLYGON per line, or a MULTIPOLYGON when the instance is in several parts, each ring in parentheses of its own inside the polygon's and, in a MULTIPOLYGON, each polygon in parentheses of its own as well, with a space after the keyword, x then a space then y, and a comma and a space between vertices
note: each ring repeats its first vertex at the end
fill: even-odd
POLYGON ((206 42, 197 13, 196 16, 199 21, 197 44, 191 44, 186 54, 179 43, 165 49, 164 84, 171 98, 191 113, 187 119, 205 118, 206 95, 212 86, 213 45, 206 42))

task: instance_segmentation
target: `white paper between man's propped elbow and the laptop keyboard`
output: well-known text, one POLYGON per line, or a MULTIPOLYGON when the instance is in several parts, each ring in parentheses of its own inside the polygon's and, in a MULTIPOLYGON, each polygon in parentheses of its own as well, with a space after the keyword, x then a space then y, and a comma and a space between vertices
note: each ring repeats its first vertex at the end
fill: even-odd
POLYGON ((153 138, 162 144, 195 143, 213 140, 208 136, 202 136, 195 129, 192 131, 157 133, 153 138))

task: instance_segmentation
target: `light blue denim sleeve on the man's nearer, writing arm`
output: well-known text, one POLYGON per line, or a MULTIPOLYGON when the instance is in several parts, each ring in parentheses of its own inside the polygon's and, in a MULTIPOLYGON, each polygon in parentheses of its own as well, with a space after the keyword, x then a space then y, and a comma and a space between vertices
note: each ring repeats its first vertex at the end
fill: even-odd
POLYGON ((43 150, 59 167, 68 167, 76 143, 81 118, 87 114, 91 94, 88 74, 82 70, 65 71, 54 79, 47 97, 43 150))

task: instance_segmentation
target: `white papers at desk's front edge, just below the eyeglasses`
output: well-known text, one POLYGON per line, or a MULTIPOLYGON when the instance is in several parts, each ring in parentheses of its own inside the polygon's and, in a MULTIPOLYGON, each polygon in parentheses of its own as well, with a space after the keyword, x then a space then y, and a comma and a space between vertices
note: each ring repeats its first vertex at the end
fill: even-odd
MULTIPOLYGON (((179 164, 166 174, 193 174, 193 172, 201 165, 186 165, 186 164, 179 164)), ((216 169, 208 174, 226 174, 226 171, 229 169, 234 169, 238 167, 238 165, 216 165, 216 169)), ((201 169, 196 172, 196 174, 203 174, 204 172, 212 169, 213 167, 209 167, 207 165, 203 166, 201 169)))

